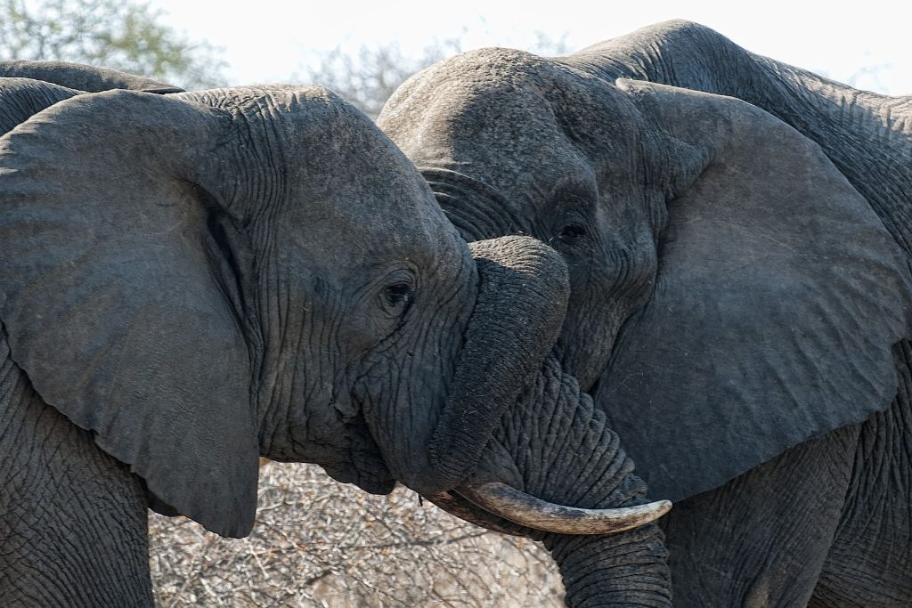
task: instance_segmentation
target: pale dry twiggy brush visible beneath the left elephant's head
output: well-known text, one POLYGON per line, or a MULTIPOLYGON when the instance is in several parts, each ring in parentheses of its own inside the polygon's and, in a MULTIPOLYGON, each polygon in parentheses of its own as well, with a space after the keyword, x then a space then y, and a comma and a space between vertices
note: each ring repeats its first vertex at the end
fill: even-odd
POLYGON ((536 543, 422 506, 407 489, 370 496, 306 465, 260 469, 249 538, 153 516, 150 565, 165 608, 563 605, 536 543))

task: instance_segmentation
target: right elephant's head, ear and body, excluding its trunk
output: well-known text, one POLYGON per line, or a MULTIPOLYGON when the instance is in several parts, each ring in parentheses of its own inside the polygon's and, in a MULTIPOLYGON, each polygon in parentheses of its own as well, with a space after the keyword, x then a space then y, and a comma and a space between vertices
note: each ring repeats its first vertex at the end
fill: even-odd
POLYGON ((378 125, 467 241, 564 256, 554 354, 676 503, 675 605, 912 603, 912 98, 674 21, 453 57, 378 125))

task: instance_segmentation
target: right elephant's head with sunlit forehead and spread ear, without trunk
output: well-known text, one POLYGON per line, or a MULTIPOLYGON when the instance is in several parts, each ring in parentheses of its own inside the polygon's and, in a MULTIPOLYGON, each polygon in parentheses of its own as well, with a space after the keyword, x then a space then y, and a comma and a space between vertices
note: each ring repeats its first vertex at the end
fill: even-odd
POLYGON ((467 240, 563 254, 555 353, 650 492, 679 500, 888 407, 912 281, 813 142, 738 99, 606 77, 616 64, 467 53, 378 124, 467 240))

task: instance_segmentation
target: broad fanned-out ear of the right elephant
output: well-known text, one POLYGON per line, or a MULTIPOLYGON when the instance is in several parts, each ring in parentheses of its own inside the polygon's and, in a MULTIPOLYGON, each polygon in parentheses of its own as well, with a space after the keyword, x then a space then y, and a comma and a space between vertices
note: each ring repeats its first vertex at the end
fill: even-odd
POLYGON ((596 393, 650 493, 716 488, 888 407, 912 281, 867 202, 816 144, 758 108, 617 84, 683 167, 655 293, 596 393))

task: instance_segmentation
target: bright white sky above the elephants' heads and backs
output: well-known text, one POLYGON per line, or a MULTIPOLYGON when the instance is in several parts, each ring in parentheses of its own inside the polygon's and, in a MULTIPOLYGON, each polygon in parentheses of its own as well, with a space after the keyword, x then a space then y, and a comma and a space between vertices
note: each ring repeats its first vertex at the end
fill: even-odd
POLYGON ((336 46, 398 42, 420 55, 435 39, 463 50, 529 47, 536 31, 572 49, 686 18, 745 48, 891 95, 912 94, 912 0, 152 0, 163 21, 223 49, 229 84, 287 81, 336 46), (845 8, 843 8, 845 7, 845 8), (860 10, 859 10, 860 9, 860 10), (876 75, 865 76, 874 68, 876 75))

